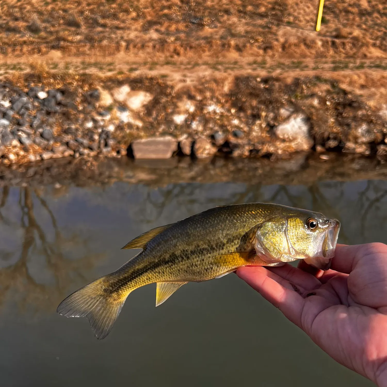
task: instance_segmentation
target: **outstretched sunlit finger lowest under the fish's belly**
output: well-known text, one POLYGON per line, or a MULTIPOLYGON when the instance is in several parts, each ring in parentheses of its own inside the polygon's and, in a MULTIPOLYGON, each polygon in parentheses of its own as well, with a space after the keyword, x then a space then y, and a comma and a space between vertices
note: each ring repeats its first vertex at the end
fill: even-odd
POLYGON ((279 308, 291 322, 302 328, 301 313, 305 300, 296 291, 277 283, 272 277, 276 277, 281 282, 285 281, 284 279, 258 266, 240 267, 236 274, 267 301, 279 308))

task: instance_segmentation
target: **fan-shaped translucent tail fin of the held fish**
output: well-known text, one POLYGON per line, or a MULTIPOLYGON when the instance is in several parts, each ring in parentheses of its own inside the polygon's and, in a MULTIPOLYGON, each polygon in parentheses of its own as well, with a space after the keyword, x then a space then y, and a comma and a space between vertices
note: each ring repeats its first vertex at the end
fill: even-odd
POLYGON ((104 277, 101 277, 78 289, 57 308, 57 312, 66 317, 86 317, 99 340, 108 336, 128 296, 111 295, 103 283, 104 277))

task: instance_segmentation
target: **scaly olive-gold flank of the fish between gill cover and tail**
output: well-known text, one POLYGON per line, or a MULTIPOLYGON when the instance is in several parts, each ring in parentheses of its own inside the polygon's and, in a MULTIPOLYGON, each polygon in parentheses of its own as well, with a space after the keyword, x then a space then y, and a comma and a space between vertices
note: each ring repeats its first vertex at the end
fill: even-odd
MULTIPOLYGON (((262 211, 246 207, 231 214, 216 207, 207 217, 197 214, 177 222, 119 269, 119 287, 132 290, 154 282, 205 281, 232 269, 233 265, 214 266, 211 257, 254 250, 253 238, 262 211), (183 236, 178 243, 176 232, 183 236)), ((116 288, 116 283, 112 287, 116 288)))

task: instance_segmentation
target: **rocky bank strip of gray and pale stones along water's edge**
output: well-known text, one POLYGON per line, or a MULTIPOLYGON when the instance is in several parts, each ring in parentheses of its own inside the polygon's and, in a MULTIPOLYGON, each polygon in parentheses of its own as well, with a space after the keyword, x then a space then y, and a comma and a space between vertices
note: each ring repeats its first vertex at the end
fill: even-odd
POLYGON ((387 159, 387 104, 334 79, 222 75, 176 86, 118 77, 45 87, 0 83, 0 163, 343 152, 387 159))

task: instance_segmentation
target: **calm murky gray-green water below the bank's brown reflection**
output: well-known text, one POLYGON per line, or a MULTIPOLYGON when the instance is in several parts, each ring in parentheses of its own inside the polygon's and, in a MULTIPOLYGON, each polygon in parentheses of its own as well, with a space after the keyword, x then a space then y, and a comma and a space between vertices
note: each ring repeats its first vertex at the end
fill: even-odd
POLYGON ((134 255, 120 250, 130 239, 215 205, 309 208, 341 220, 341 243, 386 243, 387 181, 115 182, 4 187, 0 194, 2 385, 372 385, 331 360, 235 274, 189 283, 158 308, 155 285, 136 290, 103 341, 86 319, 55 310, 134 255))

